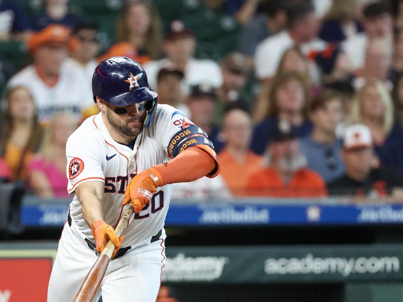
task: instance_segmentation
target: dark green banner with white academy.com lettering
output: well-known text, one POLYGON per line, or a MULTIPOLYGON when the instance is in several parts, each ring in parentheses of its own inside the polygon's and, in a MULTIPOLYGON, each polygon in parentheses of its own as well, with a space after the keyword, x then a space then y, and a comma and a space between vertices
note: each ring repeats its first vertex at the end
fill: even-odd
POLYGON ((167 282, 403 281, 403 246, 168 247, 167 282))

